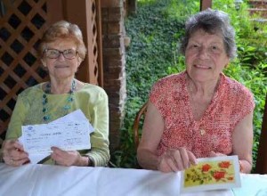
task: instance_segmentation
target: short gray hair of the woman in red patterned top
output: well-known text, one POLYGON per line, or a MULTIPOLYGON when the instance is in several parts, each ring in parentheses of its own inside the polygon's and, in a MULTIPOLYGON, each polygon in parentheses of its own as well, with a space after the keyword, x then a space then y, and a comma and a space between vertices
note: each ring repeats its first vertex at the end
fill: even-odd
POLYGON ((185 23, 185 36, 180 45, 181 53, 184 55, 191 35, 198 29, 203 29, 209 34, 223 37, 225 52, 232 60, 237 56, 237 45, 235 42, 235 30, 231 26, 227 13, 218 10, 206 9, 191 16, 185 23))

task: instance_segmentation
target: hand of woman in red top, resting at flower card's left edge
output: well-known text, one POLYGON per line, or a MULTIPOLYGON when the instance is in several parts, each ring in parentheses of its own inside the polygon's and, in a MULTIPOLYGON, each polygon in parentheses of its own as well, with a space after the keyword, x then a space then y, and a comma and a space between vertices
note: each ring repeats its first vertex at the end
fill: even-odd
POLYGON ((191 164, 197 164, 197 159, 191 151, 185 148, 169 149, 159 157, 158 170, 177 172, 190 167, 191 164))

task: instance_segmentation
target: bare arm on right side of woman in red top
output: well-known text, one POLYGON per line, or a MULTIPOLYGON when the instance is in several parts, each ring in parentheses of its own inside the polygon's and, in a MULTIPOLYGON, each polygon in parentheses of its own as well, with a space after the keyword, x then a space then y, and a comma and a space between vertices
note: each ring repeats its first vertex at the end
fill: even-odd
POLYGON ((250 173, 252 168, 253 148, 253 111, 242 118, 235 127, 232 135, 233 154, 239 156, 240 169, 250 173))

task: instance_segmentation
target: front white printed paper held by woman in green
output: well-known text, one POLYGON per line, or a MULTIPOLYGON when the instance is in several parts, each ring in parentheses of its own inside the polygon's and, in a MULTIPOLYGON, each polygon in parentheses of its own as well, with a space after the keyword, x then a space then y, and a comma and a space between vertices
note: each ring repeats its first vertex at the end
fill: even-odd
POLYGON ((22 126, 24 150, 28 153, 52 152, 56 146, 64 151, 90 149, 90 133, 86 121, 70 121, 22 126))

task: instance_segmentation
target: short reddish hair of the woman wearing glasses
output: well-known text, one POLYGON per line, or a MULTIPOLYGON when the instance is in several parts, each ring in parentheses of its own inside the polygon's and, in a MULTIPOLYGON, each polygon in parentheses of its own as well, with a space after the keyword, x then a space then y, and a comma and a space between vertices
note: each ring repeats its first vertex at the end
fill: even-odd
POLYGON ((81 29, 76 24, 72 24, 69 21, 61 20, 54 23, 44 33, 44 37, 39 45, 39 55, 42 57, 46 44, 56 41, 59 38, 69 38, 77 45, 77 53, 79 57, 85 60, 86 47, 83 40, 83 34, 81 29))

